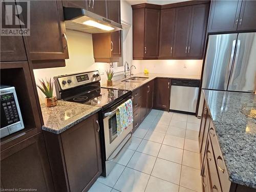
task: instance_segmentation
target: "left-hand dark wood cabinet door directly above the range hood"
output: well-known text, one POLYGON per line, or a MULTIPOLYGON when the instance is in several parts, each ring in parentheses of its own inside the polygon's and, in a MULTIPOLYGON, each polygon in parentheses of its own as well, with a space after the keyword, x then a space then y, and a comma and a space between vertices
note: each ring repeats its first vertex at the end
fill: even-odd
POLYGON ((96 13, 105 18, 107 16, 106 8, 107 8, 106 0, 91 0, 91 1, 89 1, 89 6, 88 6, 89 11, 96 13))

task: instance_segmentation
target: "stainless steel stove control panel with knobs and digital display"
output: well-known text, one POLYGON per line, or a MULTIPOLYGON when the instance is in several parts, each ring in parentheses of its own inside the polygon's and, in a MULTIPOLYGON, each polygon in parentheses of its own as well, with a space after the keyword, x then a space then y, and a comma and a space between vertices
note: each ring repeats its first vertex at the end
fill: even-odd
POLYGON ((84 73, 60 75, 54 77, 54 79, 56 79, 58 82, 58 87, 60 87, 61 90, 66 90, 81 86, 83 84, 99 81, 100 75, 99 71, 90 71, 84 73))

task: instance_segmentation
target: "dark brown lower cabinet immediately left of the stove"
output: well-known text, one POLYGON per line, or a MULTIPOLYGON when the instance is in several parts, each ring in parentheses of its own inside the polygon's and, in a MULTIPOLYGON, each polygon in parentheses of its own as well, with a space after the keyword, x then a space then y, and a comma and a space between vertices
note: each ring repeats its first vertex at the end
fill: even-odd
POLYGON ((56 191, 87 191, 102 173, 98 114, 61 134, 44 131, 56 191))

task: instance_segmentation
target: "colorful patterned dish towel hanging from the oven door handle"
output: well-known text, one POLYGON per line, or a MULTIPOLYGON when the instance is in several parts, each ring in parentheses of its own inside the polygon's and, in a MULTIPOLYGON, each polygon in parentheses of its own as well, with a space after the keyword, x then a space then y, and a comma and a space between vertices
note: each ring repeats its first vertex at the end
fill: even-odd
POLYGON ((133 102, 131 99, 118 106, 116 112, 117 136, 133 122, 133 102))

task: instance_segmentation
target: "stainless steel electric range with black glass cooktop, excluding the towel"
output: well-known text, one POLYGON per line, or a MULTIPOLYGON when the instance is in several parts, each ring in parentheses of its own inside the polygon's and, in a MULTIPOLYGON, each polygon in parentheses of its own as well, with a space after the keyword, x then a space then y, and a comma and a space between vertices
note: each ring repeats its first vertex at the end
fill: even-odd
POLYGON ((98 71, 54 77, 57 98, 99 106, 102 176, 106 177, 130 145, 132 124, 117 136, 117 107, 132 98, 127 90, 100 88, 98 71))

